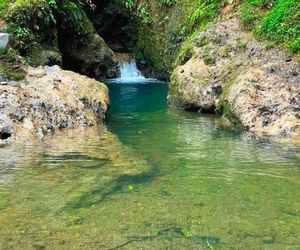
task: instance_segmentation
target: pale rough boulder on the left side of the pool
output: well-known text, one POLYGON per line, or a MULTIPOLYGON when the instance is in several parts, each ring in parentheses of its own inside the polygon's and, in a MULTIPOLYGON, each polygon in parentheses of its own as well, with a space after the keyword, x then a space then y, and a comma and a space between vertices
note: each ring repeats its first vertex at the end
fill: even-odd
POLYGON ((58 66, 29 68, 26 80, 0 85, 0 142, 95 125, 108 104, 96 80, 58 66))

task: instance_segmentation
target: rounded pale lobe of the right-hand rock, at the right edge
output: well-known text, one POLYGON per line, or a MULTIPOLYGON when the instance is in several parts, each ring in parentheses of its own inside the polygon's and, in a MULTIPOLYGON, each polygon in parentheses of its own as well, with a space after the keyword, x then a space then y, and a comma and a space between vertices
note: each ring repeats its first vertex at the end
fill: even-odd
POLYGON ((249 68, 232 83, 226 102, 249 130, 267 135, 300 135, 300 81, 290 84, 264 67, 249 68))

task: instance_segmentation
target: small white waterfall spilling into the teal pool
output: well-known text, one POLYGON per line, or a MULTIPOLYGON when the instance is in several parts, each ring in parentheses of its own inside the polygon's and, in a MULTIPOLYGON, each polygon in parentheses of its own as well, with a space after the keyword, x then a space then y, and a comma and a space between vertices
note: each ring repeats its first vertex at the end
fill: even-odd
POLYGON ((153 81, 157 80, 143 76, 142 72, 137 68, 135 59, 123 62, 120 65, 120 78, 109 80, 109 82, 116 83, 145 83, 153 81))

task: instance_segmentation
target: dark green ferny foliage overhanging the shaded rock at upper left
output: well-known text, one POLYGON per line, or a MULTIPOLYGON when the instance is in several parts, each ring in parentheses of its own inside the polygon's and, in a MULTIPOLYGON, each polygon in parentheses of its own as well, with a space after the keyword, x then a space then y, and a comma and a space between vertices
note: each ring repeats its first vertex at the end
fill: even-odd
POLYGON ((86 4, 92 7, 90 1, 81 0, 16 0, 11 3, 5 19, 9 31, 17 38, 16 48, 27 55, 41 44, 56 46, 58 29, 66 30, 69 36, 76 36, 82 42, 93 30, 83 10, 86 4))

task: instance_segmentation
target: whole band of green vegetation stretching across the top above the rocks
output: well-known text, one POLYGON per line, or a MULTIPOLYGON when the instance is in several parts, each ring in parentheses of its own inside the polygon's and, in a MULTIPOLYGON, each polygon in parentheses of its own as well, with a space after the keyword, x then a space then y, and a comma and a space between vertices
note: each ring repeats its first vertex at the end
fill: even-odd
POLYGON ((240 15, 259 39, 299 55, 298 0, 0 0, 0 14, 16 37, 16 49, 36 64, 39 48, 58 50, 60 36, 88 42, 96 29, 108 40, 112 34, 123 37, 138 59, 168 75, 176 58, 178 63, 191 53, 186 41, 228 6, 229 15, 240 15))

